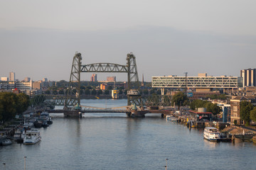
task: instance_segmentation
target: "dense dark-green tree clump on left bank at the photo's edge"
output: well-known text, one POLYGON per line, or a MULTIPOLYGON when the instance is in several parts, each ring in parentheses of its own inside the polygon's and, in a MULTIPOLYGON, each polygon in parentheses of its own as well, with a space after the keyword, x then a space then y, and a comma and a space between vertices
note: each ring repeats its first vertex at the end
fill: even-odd
POLYGON ((11 120, 16 114, 21 114, 30 105, 30 98, 26 94, 11 92, 0 93, 0 120, 11 120))

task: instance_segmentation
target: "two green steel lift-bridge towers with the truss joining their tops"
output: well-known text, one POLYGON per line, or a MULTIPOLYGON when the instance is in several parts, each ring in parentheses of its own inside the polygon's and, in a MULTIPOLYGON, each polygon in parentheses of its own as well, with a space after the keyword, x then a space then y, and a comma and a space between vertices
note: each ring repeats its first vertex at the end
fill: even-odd
MULTIPOLYGON (((73 64, 70 72, 70 83, 68 86, 67 99, 65 106, 74 104, 71 100, 75 96, 75 104, 80 105, 80 74, 82 72, 111 72, 111 73, 127 73, 128 76, 128 91, 135 89, 139 91, 139 76, 137 72, 136 57, 131 53, 127 54, 127 65, 113 64, 113 63, 95 63, 82 65, 82 55, 79 52, 75 53, 73 57, 73 64)), ((127 95, 127 104, 130 106, 136 103, 142 106, 142 99, 140 95, 127 95)))

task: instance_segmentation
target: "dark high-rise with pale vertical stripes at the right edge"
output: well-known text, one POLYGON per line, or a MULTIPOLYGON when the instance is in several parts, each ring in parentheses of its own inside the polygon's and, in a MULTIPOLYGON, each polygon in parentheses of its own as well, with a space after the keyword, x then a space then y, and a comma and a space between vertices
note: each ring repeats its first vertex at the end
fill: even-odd
POLYGON ((242 77, 242 87, 256 86, 256 69, 242 69, 240 77, 242 77))

